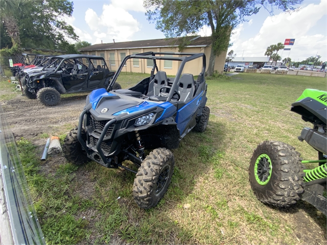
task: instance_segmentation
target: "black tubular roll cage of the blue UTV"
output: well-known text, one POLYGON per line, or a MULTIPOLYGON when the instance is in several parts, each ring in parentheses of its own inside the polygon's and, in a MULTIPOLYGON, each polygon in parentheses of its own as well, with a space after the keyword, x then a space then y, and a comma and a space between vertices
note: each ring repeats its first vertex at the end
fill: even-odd
MULTIPOLYGON (((121 70, 123 69, 125 63, 129 59, 147 59, 147 60, 153 60, 153 67, 151 70, 151 75, 150 75, 150 81, 154 77, 154 71, 158 71, 158 66, 156 64, 156 60, 172 60, 172 61, 181 61, 181 64, 179 65, 179 68, 176 73, 176 78, 172 84, 172 87, 170 89, 170 92, 168 94, 167 101, 170 101, 174 95, 175 90, 178 89, 178 81, 179 78, 182 74, 183 68, 185 66, 186 62, 195 60, 202 57, 202 71, 201 74, 204 75, 205 72, 205 67, 206 67, 206 61, 205 61, 205 55, 204 53, 174 53, 174 52, 146 52, 146 53, 141 53, 141 54, 136 54, 136 55, 128 55, 124 58, 122 61, 121 65, 119 66, 118 70, 116 71, 115 75, 113 76, 111 82, 109 83, 109 86, 107 88, 107 92, 112 90, 112 87, 117 80, 121 70), (156 55, 183 55, 182 57, 167 57, 167 56, 156 56, 156 55)), ((201 78, 202 80, 204 79, 204 76, 201 78)), ((202 82, 202 81, 200 81, 202 82)))

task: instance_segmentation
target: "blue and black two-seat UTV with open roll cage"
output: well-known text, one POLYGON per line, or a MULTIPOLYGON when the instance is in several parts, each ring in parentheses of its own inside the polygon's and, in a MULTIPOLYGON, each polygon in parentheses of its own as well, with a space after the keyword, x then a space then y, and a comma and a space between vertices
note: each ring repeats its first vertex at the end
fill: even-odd
POLYGON ((178 148, 179 141, 192 129, 204 132, 207 127, 210 110, 205 106, 204 72, 203 53, 126 56, 107 90, 97 89, 87 96, 78 127, 64 140, 66 159, 77 165, 94 160, 105 167, 122 167, 135 173, 136 204, 144 209, 156 206, 173 175, 175 160, 170 150, 178 148), (151 60, 151 75, 134 87, 115 90, 128 59, 151 60), (182 74, 185 64, 195 59, 202 60, 197 81, 192 74, 182 74), (158 71, 160 60, 181 62, 175 78, 168 79, 165 71, 158 71), (145 150, 152 152, 146 156, 145 150), (133 162, 138 170, 124 166, 125 160, 133 162))

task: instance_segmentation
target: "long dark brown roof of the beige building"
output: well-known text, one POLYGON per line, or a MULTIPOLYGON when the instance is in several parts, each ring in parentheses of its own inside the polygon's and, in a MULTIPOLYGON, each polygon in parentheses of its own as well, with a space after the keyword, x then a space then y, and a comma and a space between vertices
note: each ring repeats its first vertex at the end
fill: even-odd
MULTIPOLYGON (((205 47, 212 43, 211 37, 192 36, 191 43, 187 47, 205 47)), ((150 40, 138 40, 129 42, 112 42, 94 44, 82 47, 78 51, 100 51, 100 50, 126 50, 145 47, 177 47, 180 44, 179 38, 162 38, 150 40)))

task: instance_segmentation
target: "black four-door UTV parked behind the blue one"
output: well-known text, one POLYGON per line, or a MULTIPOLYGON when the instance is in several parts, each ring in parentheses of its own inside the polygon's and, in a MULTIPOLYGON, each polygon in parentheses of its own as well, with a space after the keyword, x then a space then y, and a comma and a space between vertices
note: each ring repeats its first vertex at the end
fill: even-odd
MULTIPOLYGON (((115 72, 100 56, 61 55, 50 58, 39 72, 25 76, 24 93, 45 106, 56 106, 60 94, 106 88, 115 72)), ((121 88, 115 84, 115 88, 121 88)))

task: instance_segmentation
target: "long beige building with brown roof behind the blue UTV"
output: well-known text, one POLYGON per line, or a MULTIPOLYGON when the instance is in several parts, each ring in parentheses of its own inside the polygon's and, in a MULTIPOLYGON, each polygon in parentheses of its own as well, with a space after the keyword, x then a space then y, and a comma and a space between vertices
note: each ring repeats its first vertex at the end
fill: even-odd
MULTIPOLYGON (((192 37, 190 44, 183 49, 183 53, 204 53, 206 56, 206 69, 209 63, 211 52, 211 37, 192 37)), ((121 61, 127 55, 133 55, 145 52, 177 52, 178 53, 178 40, 176 38, 170 39, 152 39, 152 40, 139 40, 130 42, 112 42, 95 44, 88 47, 80 48, 82 54, 102 56, 111 70, 117 70, 121 61)), ((222 74, 226 52, 216 57, 215 70, 222 74)), ((170 55, 165 55, 170 56, 170 55)), ((166 71, 167 75, 176 75, 180 61, 157 61, 159 70, 166 71)), ((123 71, 139 72, 150 74, 153 67, 152 60, 145 59, 130 59, 126 63, 123 71)), ((202 60, 196 59, 186 63, 182 73, 190 73, 193 75, 200 74, 202 69, 202 60)))

